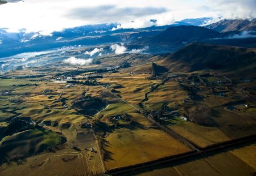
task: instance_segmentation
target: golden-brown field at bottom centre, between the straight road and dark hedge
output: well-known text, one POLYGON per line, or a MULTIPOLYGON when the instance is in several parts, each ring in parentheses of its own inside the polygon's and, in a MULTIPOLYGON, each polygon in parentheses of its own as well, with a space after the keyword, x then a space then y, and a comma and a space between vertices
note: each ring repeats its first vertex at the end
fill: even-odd
POLYGON ((106 168, 113 169, 188 152, 189 149, 160 130, 121 128, 106 138, 105 151, 106 168))

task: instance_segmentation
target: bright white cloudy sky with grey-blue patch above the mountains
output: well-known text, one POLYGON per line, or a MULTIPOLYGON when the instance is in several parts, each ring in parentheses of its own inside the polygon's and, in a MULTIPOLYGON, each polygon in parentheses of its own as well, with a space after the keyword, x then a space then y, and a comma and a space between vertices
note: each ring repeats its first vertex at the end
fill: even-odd
POLYGON ((24 0, 0 6, 0 28, 49 35, 86 24, 120 23, 118 28, 172 24, 186 18, 255 18, 255 0, 24 0))

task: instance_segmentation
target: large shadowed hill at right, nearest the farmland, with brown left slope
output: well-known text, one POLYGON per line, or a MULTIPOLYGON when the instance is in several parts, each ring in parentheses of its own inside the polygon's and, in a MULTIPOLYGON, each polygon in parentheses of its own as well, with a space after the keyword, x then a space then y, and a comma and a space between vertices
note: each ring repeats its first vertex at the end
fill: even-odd
POLYGON ((173 72, 188 72, 205 69, 231 71, 255 62, 253 49, 192 43, 167 55, 159 64, 173 72))

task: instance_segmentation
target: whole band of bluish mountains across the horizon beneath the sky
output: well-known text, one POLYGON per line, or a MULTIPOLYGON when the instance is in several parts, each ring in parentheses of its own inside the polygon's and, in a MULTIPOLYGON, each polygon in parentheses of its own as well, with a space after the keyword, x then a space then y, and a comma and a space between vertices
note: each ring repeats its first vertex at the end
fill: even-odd
POLYGON ((196 26, 205 25, 210 20, 212 18, 185 19, 172 25, 153 25, 143 29, 113 30, 118 23, 84 25, 49 35, 41 32, 27 33, 25 29, 19 32, 0 29, 0 57, 63 46, 92 46, 117 42, 128 44, 128 48, 150 46, 149 52, 152 54, 174 52, 189 42, 255 47, 255 19, 221 20, 202 27, 196 26), (242 33, 245 30, 250 31, 242 33))

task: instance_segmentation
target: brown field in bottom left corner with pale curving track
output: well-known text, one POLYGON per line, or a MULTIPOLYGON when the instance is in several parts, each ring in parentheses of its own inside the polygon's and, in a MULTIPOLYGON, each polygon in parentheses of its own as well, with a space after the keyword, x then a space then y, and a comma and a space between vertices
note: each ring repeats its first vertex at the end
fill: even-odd
POLYGON ((98 153, 64 149, 0 166, 0 175, 92 175, 101 174, 98 153), (92 156, 92 157, 90 157, 92 156), (92 159, 93 158, 93 161, 92 159))

